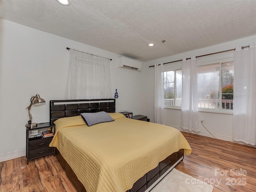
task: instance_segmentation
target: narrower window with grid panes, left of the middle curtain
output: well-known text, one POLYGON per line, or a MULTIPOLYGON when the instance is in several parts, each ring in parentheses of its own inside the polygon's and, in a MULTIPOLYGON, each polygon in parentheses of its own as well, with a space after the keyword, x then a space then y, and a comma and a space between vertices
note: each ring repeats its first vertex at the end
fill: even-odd
POLYGON ((164 105, 181 106, 182 70, 164 72, 164 105))

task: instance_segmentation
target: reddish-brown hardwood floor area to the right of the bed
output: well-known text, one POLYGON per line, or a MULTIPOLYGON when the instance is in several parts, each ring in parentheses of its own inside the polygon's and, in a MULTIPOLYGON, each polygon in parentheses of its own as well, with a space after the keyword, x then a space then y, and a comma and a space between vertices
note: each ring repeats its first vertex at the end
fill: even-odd
POLYGON ((214 186, 213 192, 256 191, 256 148, 182 132, 192 148, 176 166, 214 186))

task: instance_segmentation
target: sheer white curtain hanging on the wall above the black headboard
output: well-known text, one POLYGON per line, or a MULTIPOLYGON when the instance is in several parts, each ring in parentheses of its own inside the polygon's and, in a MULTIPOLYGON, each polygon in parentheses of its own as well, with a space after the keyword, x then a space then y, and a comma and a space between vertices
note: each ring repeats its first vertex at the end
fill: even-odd
POLYGON ((113 98, 110 61, 70 49, 70 67, 65 99, 113 98))

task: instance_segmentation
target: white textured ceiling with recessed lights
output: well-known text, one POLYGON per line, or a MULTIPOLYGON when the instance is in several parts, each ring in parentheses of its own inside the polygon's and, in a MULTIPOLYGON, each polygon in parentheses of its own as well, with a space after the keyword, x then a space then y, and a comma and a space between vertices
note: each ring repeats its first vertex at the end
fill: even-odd
POLYGON ((70 2, 0 0, 0 16, 143 62, 256 35, 256 0, 70 2))

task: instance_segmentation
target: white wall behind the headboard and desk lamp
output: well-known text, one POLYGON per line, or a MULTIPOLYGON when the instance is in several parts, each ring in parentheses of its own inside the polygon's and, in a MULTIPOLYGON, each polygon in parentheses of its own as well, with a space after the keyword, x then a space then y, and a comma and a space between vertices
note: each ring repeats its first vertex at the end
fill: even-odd
POLYGON ((91 52, 110 61, 116 112, 144 114, 144 67, 141 72, 118 68, 120 55, 8 20, 1 22, 0 161, 25 155, 31 95, 40 94, 43 106, 32 106, 33 122, 49 121, 49 101, 64 99, 69 66, 66 47, 91 52))

